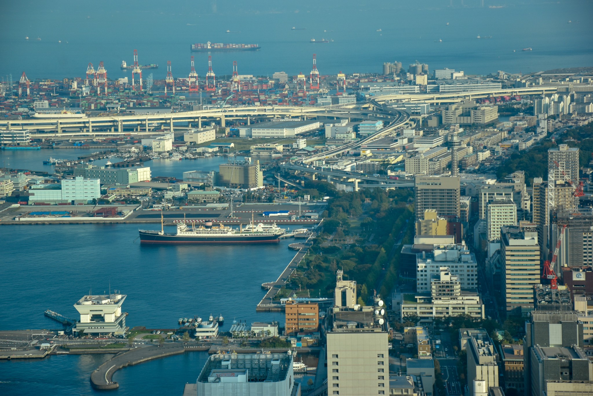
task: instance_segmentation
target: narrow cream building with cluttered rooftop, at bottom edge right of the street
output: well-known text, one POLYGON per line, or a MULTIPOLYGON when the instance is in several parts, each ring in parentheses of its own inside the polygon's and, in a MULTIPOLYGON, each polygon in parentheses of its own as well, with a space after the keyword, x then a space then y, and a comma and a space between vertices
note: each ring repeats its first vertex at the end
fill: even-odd
POLYGON ((474 335, 467 340, 467 387, 469 394, 479 394, 476 382, 486 389, 498 387, 499 355, 490 337, 474 335))

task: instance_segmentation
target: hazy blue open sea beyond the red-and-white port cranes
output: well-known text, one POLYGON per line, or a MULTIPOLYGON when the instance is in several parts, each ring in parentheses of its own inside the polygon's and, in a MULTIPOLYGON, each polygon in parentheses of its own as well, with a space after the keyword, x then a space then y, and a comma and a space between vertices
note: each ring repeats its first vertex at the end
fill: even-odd
POLYGON ((417 60, 431 71, 449 67, 467 74, 593 65, 593 2, 587 0, 485 0, 484 8, 477 7, 480 0, 453 0, 454 7, 450 0, 74 4, 0 2, 0 77, 11 73, 18 81, 23 71, 30 80, 81 77, 88 62, 96 68, 99 61, 105 62, 110 78, 130 76, 119 66, 122 60, 130 64, 133 49, 138 49, 141 64, 160 65, 145 70, 145 76, 152 72, 163 79, 171 61, 174 77, 187 77, 190 55, 195 55, 203 78, 208 54, 190 52, 190 44, 207 41, 262 47, 257 52, 213 53, 218 76, 231 74, 232 61, 238 61, 239 74, 307 74, 313 53, 321 74, 380 72, 383 62, 394 60, 405 68, 417 60), (291 30, 293 26, 306 30, 291 30), (492 39, 477 40, 477 35, 492 39), (334 42, 312 44, 312 38, 334 42), (524 47, 533 51, 521 52, 524 47))

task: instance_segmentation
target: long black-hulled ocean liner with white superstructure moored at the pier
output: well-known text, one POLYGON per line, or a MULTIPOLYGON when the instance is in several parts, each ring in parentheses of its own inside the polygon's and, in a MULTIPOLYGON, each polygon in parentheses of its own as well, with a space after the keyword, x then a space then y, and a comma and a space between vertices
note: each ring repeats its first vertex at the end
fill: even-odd
POLYGON ((278 242, 285 229, 276 224, 248 224, 245 228, 212 226, 206 220, 203 226, 188 227, 185 223, 177 225, 176 233, 165 233, 161 230, 139 230, 141 243, 262 243, 278 242))

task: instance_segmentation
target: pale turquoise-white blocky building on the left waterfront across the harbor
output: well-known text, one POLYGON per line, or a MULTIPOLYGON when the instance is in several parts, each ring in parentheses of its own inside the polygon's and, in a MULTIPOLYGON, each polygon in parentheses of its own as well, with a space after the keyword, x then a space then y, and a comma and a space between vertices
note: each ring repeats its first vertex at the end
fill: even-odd
POLYGON ((60 184, 39 184, 29 190, 29 204, 44 202, 60 204, 74 202, 88 204, 93 199, 101 197, 99 179, 85 179, 78 176, 74 179, 64 179, 60 184))

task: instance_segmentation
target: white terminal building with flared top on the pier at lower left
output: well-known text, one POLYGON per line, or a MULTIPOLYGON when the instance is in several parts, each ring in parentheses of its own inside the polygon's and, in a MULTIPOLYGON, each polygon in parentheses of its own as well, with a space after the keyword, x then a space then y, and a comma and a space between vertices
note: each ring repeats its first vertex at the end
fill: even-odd
POLYGON ((80 313, 80 320, 74 331, 84 331, 84 334, 95 336, 124 334, 127 313, 122 313, 122 304, 126 297, 126 294, 119 293, 82 297, 74 304, 74 308, 80 313))

